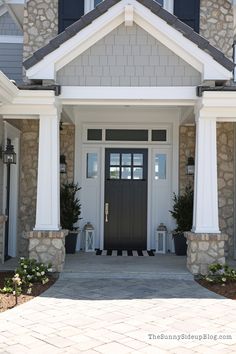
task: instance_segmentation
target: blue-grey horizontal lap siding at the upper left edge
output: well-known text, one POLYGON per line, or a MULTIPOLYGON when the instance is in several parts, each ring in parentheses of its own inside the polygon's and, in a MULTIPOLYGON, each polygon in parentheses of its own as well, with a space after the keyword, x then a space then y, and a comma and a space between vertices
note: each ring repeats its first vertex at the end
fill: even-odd
POLYGON ((22 82, 23 44, 0 43, 0 70, 10 80, 22 82))

